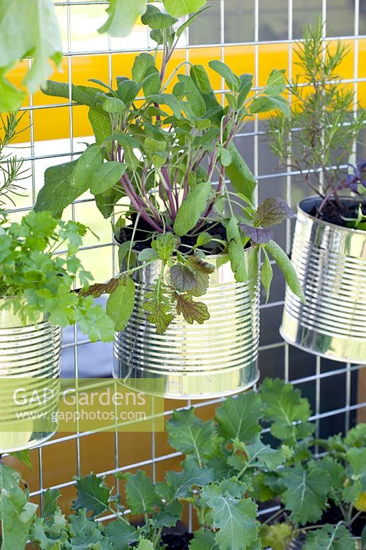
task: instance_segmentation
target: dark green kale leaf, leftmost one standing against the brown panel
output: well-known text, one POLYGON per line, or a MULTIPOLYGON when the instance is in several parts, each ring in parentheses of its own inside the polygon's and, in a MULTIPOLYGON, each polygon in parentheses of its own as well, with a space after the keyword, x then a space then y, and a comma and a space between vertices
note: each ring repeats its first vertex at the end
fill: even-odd
POLYGON ((112 489, 106 486, 103 478, 89 474, 75 479, 78 498, 73 500, 74 510, 85 509, 87 514, 91 512, 91 517, 95 518, 110 509, 112 489))

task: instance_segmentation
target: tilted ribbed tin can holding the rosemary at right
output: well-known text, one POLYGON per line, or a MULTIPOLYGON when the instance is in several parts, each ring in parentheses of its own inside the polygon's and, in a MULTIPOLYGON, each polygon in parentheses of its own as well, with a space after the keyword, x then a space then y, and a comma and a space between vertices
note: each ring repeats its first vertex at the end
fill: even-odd
POLYGON ((306 304, 286 289, 280 332, 310 353, 365 364, 366 232, 314 218, 309 212, 320 202, 309 197, 297 206, 291 261, 306 304))

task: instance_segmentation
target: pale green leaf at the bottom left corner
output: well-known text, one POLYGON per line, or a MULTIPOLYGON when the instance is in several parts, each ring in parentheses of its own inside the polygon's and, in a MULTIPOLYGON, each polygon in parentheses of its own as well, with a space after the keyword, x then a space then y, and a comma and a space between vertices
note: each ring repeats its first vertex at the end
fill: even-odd
POLYGON ((19 487, 21 474, 0 463, 1 550, 23 549, 38 506, 19 487))

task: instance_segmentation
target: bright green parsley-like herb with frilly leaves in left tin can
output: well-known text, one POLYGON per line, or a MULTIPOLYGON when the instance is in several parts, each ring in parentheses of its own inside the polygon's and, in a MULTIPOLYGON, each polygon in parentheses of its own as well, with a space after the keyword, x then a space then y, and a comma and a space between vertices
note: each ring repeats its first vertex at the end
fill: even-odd
POLYGON ((74 283, 87 287, 91 281, 76 256, 86 232, 81 223, 56 221, 49 212, 32 211, 20 223, 1 221, 0 309, 24 324, 43 316, 60 327, 78 322, 92 341, 112 340, 113 321, 103 307, 72 292, 74 283))

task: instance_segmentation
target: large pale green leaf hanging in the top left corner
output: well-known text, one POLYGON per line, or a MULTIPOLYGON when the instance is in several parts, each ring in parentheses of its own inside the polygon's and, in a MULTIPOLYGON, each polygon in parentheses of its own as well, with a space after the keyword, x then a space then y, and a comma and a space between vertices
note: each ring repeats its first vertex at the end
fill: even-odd
MULTIPOLYGON (((30 55, 33 63, 23 83, 33 94, 53 72, 49 59, 58 67, 62 61, 62 42, 54 4, 52 0, 26 3, 23 0, 3 0, 0 3, 0 67, 10 67, 15 61, 30 55)), ((0 111, 4 110, 3 107, 5 105, 0 103, 0 111)))

